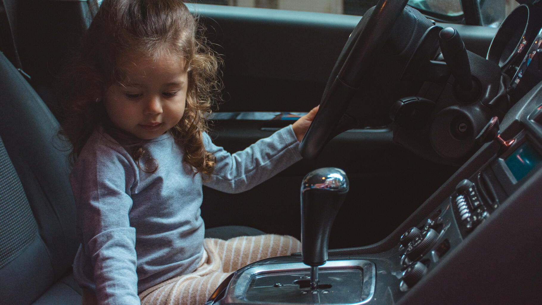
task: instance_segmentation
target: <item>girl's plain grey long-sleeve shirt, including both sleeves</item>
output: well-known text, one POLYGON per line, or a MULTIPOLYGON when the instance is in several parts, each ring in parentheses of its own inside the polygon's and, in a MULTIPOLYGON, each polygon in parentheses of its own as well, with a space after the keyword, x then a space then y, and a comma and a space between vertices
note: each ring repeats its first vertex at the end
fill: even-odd
POLYGON ((291 126, 235 154, 207 134, 204 144, 216 156, 207 181, 182 162, 184 149, 169 132, 144 147, 158 164, 154 173, 141 171, 102 130, 89 138, 70 175, 81 241, 74 276, 99 304, 139 304, 141 291, 197 268, 202 185, 243 192, 301 158, 291 126))

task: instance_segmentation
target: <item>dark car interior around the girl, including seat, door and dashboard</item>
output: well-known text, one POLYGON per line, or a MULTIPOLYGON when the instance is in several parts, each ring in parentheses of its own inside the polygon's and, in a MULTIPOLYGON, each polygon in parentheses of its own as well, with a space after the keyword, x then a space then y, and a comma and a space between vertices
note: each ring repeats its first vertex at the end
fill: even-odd
MULTIPOLYGON (((449 20, 412 0, 363 17, 187 4, 224 61, 217 145, 242 150, 320 104, 304 160, 240 194, 204 187, 206 228, 303 244, 206 304, 540 303, 542 4, 492 27, 486 1, 449 20)), ((0 304, 80 304, 57 83, 93 10, 0 3, 0 304)))

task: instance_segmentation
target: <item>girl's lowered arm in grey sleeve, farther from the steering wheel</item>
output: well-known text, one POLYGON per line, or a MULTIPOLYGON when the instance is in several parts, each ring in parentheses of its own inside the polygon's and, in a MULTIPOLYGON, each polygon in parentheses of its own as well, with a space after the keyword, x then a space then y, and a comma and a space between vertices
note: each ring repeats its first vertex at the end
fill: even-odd
POLYGON ((82 153, 70 177, 83 252, 74 264, 92 275, 87 279, 95 283, 98 304, 139 304, 135 228, 128 218, 135 173, 123 154, 100 148, 82 153))

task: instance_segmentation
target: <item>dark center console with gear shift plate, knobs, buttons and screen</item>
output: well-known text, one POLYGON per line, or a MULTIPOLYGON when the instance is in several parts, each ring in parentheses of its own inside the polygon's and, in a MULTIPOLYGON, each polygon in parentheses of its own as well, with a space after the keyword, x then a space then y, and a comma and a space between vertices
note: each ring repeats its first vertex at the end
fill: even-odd
POLYGON ((207 304, 537 303, 542 83, 495 135, 390 236, 328 251, 317 287, 294 253, 236 271, 207 304))

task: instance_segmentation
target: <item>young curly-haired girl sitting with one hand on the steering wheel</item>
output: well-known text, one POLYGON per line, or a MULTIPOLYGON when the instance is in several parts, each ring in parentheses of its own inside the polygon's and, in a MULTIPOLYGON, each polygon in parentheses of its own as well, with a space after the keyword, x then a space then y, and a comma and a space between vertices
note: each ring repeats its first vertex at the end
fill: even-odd
POLYGON ((85 304, 202 304, 230 272, 300 251, 288 236, 204 239, 202 185, 242 192, 298 161, 318 109, 233 155, 216 147, 218 65, 197 36, 179 0, 104 0, 67 74, 85 304))

